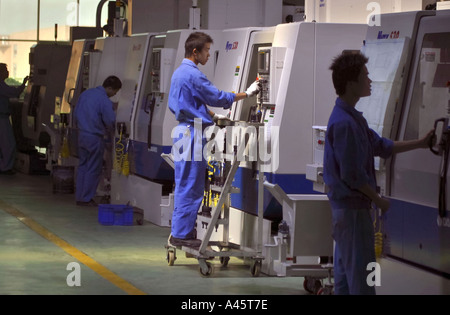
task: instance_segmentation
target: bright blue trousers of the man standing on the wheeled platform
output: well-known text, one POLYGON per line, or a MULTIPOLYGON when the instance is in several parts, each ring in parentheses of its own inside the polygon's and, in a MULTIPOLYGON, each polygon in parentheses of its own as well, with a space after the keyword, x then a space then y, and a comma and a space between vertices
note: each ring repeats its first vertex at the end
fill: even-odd
POLYGON ((205 139, 202 130, 180 124, 174 138, 172 154, 175 162, 175 196, 172 215, 172 236, 194 237, 197 213, 205 190, 206 160, 203 157, 205 139))

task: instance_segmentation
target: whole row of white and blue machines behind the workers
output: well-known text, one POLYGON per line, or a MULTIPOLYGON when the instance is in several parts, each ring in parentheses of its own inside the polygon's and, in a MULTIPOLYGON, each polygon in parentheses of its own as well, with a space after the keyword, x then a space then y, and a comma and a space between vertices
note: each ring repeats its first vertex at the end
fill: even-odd
MULTIPOLYGON (((255 78, 263 84, 258 97, 239 101, 227 111, 213 110, 232 121, 264 126, 258 139, 263 144, 259 147, 266 150, 264 176, 258 176, 251 161, 240 163, 233 181, 236 189, 230 194, 227 235, 241 246, 253 248, 259 243, 264 273, 314 274, 317 268, 305 266, 320 266, 324 257, 333 255, 321 166, 326 124, 336 98, 328 69, 333 57, 361 50, 370 58, 373 95, 362 99, 358 107, 380 135, 415 139, 442 118, 443 127, 437 133, 439 143, 445 142, 448 17, 448 11, 423 11, 382 15, 380 25, 371 27, 301 22, 202 30, 214 43, 209 62, 200 69, 219 89, 244 91, 255 78), (261 179, 262 201, 258 200, 261 179), (262 232, 257 228, 261 207, 262 232)), ((113 100, 117 125, 108 138, 105 180, 99 190, 111 203, 141 209, 145 220, 160 226, 170 226, 173 211, 170 153, 177 122, 167 106, 170 79, 184 58, 184 42, 191 32, 75 41, 70 58, 66 58, 70 59, 66 79, 61 80, 65 87, 59 94, 60 108, 52 114, 52 121, 44 124, 47 127, 42 127, 52 129, 52 122, 64 122, 58 123, 63 128, 49 131, 52 150, 48 159, 76 166, 76 126, 71 113, 80 93, 100 85, 108 75, 121 78, 123 87, 113 100), (70 154, 61 159, 64 139, 70 154)), ((38 90, 29 92, 28 97, 43 97, 45 89, 38 90)), ((32 120, 27 117, 27 126, 32 126, 32 120)), ((380 193, 392 204, 382 218, 382 238, 377 241, 385 255, 448 279, 450 238, 445 203, 441 209, 448 190, 446 173, 442 176, 443 168, 439 169, 440 164, 446 166, 444 149, 441 145, 434 150, 437 155, 417 150, 377 161, 380 193)), ((198 237, 206 230, 199 215, 198 237)), ((217 228, 212 239, 220 238, 221 233, 217 228)))

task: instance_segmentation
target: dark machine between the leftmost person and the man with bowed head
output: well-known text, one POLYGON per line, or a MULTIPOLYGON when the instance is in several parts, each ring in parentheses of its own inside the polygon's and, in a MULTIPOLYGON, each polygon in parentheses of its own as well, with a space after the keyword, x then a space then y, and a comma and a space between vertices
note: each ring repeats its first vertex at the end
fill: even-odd
POLYGON ((52 147, 54 136, 66 123, 59 114, 70 56, 67 43, 40 42, 30 49, 24 100, 14 104, 12 114, 17 143, 15 168, 24 173, 48 172, 45 155, 36 148, 52 147))

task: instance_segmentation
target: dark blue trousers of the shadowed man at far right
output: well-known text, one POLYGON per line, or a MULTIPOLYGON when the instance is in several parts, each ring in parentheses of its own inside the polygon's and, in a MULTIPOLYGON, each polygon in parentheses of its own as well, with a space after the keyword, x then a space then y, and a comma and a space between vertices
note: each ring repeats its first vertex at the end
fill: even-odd
POLYGON ((334 249, 334 293, 374 295, 369 286, 369 263, 376 262, 375 239, 369 209, 332 209, 334 249))

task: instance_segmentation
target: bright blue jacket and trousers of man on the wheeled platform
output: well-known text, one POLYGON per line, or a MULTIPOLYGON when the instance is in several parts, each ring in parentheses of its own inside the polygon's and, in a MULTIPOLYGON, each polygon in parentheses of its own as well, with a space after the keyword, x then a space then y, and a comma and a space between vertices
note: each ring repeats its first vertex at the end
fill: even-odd
POLYGON ((194 237, 197 212, 203 199, 207 166, 202 154, 203 131, 214 124, 206 104, 227 109, 234 99, 234 93, 217 89, 189 59, 184 59, 173 73, 169 108, 179 122, 173 132, 172 147, 175 162, 172 236, 175 238, 194 237), (194 120, 198 123, 194 124, 194 120))

